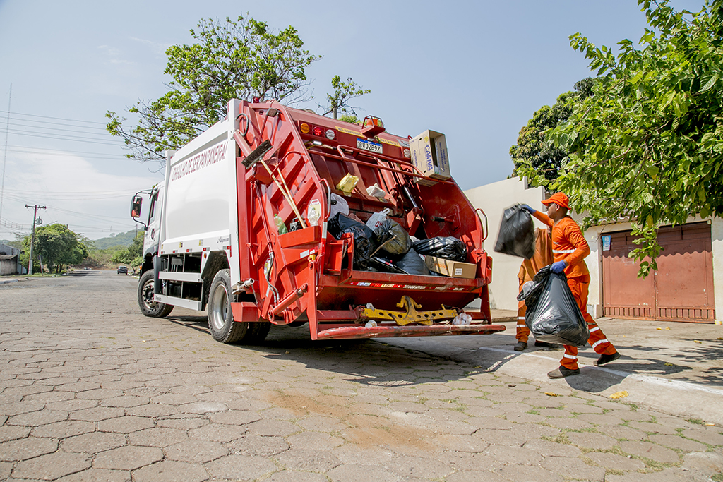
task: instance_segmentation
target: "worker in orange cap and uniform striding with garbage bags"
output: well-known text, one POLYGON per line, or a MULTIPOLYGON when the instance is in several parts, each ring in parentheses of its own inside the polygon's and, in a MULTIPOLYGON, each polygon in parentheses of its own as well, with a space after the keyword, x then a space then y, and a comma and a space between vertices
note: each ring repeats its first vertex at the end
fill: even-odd
MULTIPOLYGON (((590 247, 585 241, 580 226, 573 218, 568 216, 570 209, 568 197, 561 192, 552 194, 549 199, 542 202, 547 206, 547 215, 523 205, 531 215, 549 226, 552 226, 552 254, 555 262, 552 263, 550 271, 555 273, 565 272, 568 278, 570 291, 578 303, 588 328, 590 338, 588 343, 599 353, 600 358, 595 361, 596 366, 604 365, 620 358, 615 347, 605 337, 595 320, 587 312, 588 285, 590 284, 590 272, 583 259, 590 254, 590 247)), ((565 376, 577 375, 580 373, 578 367, 578 348, 565 345, 565 355, 562 356, 560 367, 550 371, 547 376, 550 378, 563 378, 565 376)))

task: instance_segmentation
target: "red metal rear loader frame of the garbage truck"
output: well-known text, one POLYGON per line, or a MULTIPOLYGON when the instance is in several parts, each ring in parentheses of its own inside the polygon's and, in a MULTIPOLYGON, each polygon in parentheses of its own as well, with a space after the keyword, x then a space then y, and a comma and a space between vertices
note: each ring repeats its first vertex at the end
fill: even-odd
POLYGON ((487 285, 492 259, 482 248, 487 230, 454 181, 435 180, 433 186, 414 182, 426 177, 403 156, 406 139, 384 133, 376 138, 382 153, 361 150, 356 139, 365 137, 359 126, 273 101, 242 101, 235 115, 244 120, 243 132, 234 132, 241 152, 236 162, 241 279, 258 280, 249 288, 255 304, 231 304, 237 321, 288 324, 307 320, 314 340, 466 335, 505 329, 491 324, 487 285), (298 127, 302 122, 335 129, 335 139, 302 134, 298 127), (264 158, 271 174, 260 162, 244 168, 241 160, 266 139, 273 145, 264 158), (315 140, 320 142, 314 144, 315 140), (365 220, 372 212, 390 207, 390 215, 411 234, 460 238, 469 251, 468 262, 478 266, 476 278, 351 270, 353 239, 337 241, 326 232, 330 193, 343 194, 333 186, 346 173, 359 177, 357 188, 346 195, 350 210, 359 218, 365 220), (382 200, 368 196, 365 188, 371 184, 379 184, 388 196, 382 200), (307 222, 309 211, 317 210, 318 225, 280 235, 274 216, 286 225, 297 217, 289 198, 307 222), (346 257, 341 257, 344 250, 346 257), (471 313, 474 322, 469 325, 382 323, 367 328, 360 323, 359 306, 372 303, 377 309, 395 310, 403 295, 427 310, 440 305, 461 309, 475 298, 482 298, 482 308, 471 313))

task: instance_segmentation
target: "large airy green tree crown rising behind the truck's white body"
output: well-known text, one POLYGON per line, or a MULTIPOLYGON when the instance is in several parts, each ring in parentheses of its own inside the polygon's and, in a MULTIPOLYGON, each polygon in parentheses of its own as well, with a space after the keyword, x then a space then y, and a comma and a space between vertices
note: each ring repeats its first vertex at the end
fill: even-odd
POLYGON ((196 43, 166 50, 164 73, 172 78, 171 91, 128 109, 139 117, 137 126, 127 130, 126 119, 106 113, 108 131, 131 150, 128 158, 163 162, 166 150, 179 149, 223 119, 226 103, 234 98, 303 100, 304 69, 320 59, 304 50, 294 27, 273 33, 252 18, 202 19, 191 35, 196 43))

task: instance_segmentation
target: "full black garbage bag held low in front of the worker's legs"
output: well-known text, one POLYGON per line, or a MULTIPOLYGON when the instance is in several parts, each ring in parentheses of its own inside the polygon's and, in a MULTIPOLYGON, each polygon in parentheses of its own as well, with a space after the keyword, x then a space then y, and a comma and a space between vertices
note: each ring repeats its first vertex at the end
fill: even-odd
POLYGON ((539 298, 531 309, 528 307, 525 314, 525 324, 535 340, 584 346, 590 331, 568 287, 565 274, 548 270, 544 281, 538 281, 542 283, 539 298))

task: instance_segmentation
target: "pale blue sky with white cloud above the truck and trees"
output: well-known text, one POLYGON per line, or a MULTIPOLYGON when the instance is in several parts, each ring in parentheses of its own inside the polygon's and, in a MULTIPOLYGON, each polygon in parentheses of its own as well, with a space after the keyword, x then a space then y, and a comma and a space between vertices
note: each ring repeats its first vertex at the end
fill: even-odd
POLYGON ((200 18, 247 12, 274 30, 294 26, 323 56, 307 69, 319 103, 333 75, 352 77, 372 90, 354 102, 361 116, 402 136, 443 132, 462 189, 509 176, 520 128, 589 76, 568 35, 614 46, 646 26, 634 0, 0 0, 0 239, 29 231, 25 205, 89 238, 134 228, 132 194, 162 173, 123 157, 104 114, 163 95, 164 51, 191 43, 200 18))

